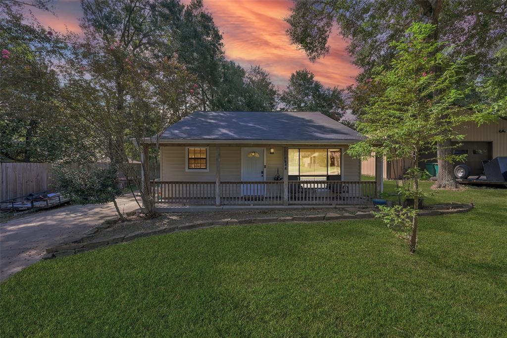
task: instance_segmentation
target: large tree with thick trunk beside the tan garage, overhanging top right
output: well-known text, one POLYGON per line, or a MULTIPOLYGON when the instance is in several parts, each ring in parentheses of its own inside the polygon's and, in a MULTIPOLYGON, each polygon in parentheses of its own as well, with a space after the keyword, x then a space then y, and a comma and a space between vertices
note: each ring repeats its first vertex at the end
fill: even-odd
MULTIPOLYGON (((389 42, 400 40, 406 28, 415 21, 436 26, 427 37, 430 41, 455 44, 450 51, 452 57, 476 55, 468 62, 466 73, 469 77, 479 76, 491 66, 491 51, 505 37, 507 3, 502 0, 304 0, 295 3, 286 20, 290 24, 287 33, 291 41, 312 60, 329 52, 328 39, 336 23, 340 34, 350 41, 347 50, 354 64, 364 70, 357 77, 357 87, 360 87, 371 79, 376 66, 388 65, 396 52, 389 42)), ((441 45, 439 51, 444 47, 441 45)), ((438 65, 433 71, 437 76, 441 73, 438 65)), ((463 86, 464 79, 456 83, 456 87, 463 86)), ((365 88, 358 88, 358 91, 352 95, 352 102, 359 99, 352 105, 356 114, 363 111, 360 107, 367 102, 365 99, 375 95, 365 92, 365 88)), ((438 147, 440 187, 457 184, 452 165, 442 160, 450 155, 450 142, 443 140, 438 147)))

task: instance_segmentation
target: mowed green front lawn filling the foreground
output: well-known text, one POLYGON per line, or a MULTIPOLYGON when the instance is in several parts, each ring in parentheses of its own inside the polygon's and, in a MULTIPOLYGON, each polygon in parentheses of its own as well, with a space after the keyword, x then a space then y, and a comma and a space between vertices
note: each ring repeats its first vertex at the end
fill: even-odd
POLYGON ((210 228, 41 261, 2 284, 1 333, 507 335, 507 190, 426 200, 476 209, 423 217, 413 255, 380 221, 354 220, 210 228))

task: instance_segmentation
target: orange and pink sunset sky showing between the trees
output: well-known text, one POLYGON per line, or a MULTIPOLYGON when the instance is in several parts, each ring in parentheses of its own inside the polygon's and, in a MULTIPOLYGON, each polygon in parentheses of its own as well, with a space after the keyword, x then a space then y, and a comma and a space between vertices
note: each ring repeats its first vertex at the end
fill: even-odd
MULTIPOLYGON (((259 64, 271 74, 273 82, 285 86, 291 73, 307 68, 326 86, 345 86, 354 82, 359 69, 352 65, 346 42, 335 31, 330 39, 329 55, 314 63, 303 51, 289 43, 285 35, 289 0, 204 0, 213 19, 223 32, 226 57, 248 68, 259 64)), ((79 32, 82 10, 79 1, 57 1, 50 13, 33 11, 44 26, 57 31, 79 32)))

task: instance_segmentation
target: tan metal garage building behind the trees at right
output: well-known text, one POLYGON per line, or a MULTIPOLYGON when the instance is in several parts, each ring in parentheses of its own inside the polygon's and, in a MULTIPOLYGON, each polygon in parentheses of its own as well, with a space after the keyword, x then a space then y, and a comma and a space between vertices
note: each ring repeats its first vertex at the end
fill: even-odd
MULTIPOLYGON (((454 149, 455 154, 465 154, 464 162, 470 168, 470 175, 480 175, 483 172, 482 161, 489 161, 498 156, 507 156, 507 120, 482 124, 478 126, 473 122, 460 125, 457 130, 460 135, 466 135, 461 141, 453 141, 454 145, 460 144, 454 149)), ((424 154, 419 166, 425 168, 425 163, 437 162, 436 153, 424 154), (424 160, 427 159, 427 160, 424 160)), ((408 160, 383 161, 384 178, 394 179, 402 177, 410 167, 408 160)), ((366 159, 361 164, 363 175, 375 175, 375 160, 366 159)))

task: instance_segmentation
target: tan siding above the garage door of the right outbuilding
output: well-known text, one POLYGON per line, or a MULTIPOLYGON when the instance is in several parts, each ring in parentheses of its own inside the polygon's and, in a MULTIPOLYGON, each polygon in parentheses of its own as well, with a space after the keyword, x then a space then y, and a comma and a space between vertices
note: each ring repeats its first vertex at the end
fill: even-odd
POLYGON ((491 157, 507 156, 507 133, 500 133, 499 130, 507 131, 507 121, 500 120, 495 123, 477 124, 468 122, 458 128, 457 132, 466 135, 463 141, 488 141, 492 142, 491 157))

